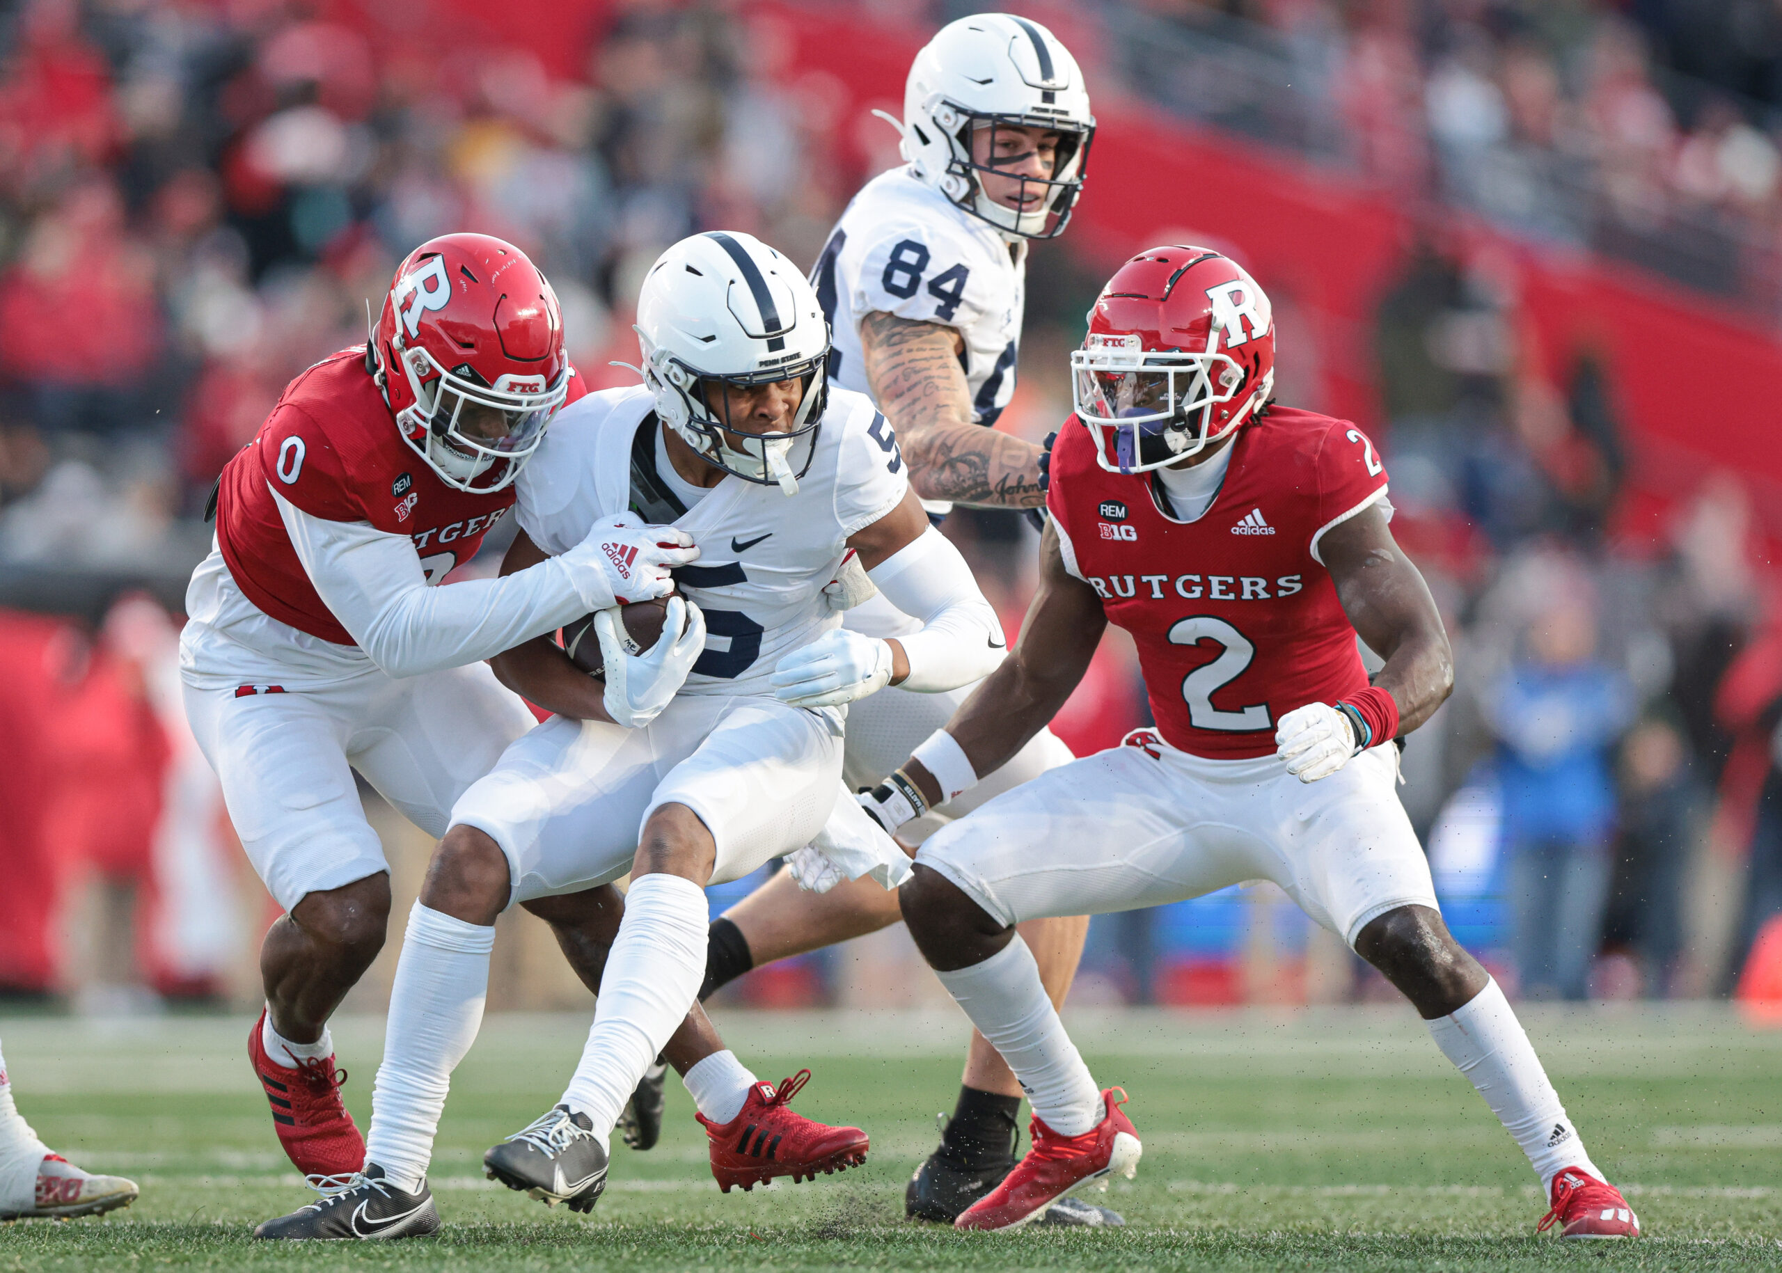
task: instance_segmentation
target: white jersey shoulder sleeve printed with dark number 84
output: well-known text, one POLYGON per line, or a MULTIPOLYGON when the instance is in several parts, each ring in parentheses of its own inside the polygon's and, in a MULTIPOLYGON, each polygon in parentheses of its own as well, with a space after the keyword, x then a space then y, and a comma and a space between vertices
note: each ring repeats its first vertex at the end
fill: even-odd
POLYGON ((994 305, 987 294, 993 283, 975 266, 980 255, 950 225, 880 226, 855 259, 848 289, 855 321, 862 314, 891 314, 911 323, 971 326, 994 305))

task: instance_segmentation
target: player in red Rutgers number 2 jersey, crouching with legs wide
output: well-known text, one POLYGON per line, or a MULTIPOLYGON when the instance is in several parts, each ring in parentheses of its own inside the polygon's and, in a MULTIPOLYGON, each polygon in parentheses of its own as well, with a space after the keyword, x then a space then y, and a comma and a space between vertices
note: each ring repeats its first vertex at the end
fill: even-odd
POLYGON ((1064 704, 1108 622, 1132 633, 1157 729, 946 825, 902 888, 923 956, 1034 1104, 1032 1152, 957 1225, 1023 1225, 1139 1164, 1124 1093, 1096 1088, 1014 925, 1271 879, 1411 1000, 1541 1175, 1541 1228, 1638 1236, 1502 990, 1443 925, 1394 790, 1394 740, 1449 695, 1452 661, 1386 526, 1374 444, 1269 401, 1269 300, 1203 248, 1128 260, 1071 362, 1021 638, 862 797, 896 827, 969 788, 1064 704), (1386 660, 1372 685, 1356 635, 1386 660))

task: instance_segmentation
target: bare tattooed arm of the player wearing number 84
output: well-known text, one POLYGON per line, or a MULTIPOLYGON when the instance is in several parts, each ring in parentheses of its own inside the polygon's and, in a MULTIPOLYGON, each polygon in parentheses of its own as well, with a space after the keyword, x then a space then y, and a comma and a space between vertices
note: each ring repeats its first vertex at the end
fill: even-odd
POLYGON ((891 314, 861 317, 866 383, 896 430, 909 480, 923 499, 985 508, 1037 508, 1041 449, 971 423, 959 332, 891 314))

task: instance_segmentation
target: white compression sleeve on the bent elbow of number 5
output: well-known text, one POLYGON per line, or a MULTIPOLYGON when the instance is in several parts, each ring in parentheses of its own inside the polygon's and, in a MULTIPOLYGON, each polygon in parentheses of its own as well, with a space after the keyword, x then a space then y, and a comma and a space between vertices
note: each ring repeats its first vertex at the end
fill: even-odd
POLYGON ((909 656, 909 678, 898 681, 900 690, 957 690, 994 672, 1009 653, 1001 622, 971 567, 934 526, 866 576, 886 601, 923 624, 921 631, 896 636, 909 656))

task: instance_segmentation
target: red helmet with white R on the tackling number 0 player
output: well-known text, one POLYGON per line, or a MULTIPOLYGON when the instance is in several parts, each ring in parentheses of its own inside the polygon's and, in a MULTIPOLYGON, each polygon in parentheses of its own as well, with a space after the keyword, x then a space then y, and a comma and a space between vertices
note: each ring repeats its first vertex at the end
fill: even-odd
POLYGON ((458 490, 511 483, 568 394, 556 292, 524 251, 486 234, 408 253, 371 364, 403 439, 458 490))

